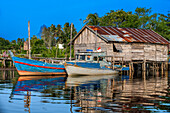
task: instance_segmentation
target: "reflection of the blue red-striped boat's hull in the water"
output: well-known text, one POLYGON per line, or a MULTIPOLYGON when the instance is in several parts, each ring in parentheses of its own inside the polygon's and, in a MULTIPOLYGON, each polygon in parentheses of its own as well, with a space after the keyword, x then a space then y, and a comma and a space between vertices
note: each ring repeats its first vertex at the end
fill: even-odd
MULTIPOLYGON (((50 88, 56 88, 65 84, 65 76, 20 76, 18 78, 14 95, 22 95, 23 91, 44 91, 50 88)), ((25 95, 25 94, 23 94, 25 95)))

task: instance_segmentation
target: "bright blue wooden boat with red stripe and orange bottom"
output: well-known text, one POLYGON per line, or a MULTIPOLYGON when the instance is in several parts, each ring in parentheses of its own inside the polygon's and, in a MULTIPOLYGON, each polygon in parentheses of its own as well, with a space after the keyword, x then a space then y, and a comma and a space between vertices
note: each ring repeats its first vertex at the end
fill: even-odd
POLYGON ((37 60, 15 57, 9 51, 19 75, 56 75, 66 74, 62 64, 50 64, 37 60))

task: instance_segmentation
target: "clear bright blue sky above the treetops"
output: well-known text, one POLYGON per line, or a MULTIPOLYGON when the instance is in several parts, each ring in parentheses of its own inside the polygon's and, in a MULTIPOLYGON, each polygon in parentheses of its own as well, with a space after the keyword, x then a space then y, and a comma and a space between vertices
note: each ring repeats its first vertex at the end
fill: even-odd
POLYGON ((170 0, 0 0, 0 37, 6 40, 38 35, 42 25, 74 23, 77 31, 90 13, 104 16, 110 10, 134 12, 137 7, 152 8, 152 13, 168 14, 170 0))

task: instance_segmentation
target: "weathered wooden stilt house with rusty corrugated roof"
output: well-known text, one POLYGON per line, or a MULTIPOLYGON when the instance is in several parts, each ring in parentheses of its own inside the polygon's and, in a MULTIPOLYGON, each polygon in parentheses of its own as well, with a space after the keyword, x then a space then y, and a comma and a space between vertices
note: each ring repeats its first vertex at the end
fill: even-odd
POLYGON ((124 61, 167 61, 170 42, 150 29, 85 25, 73 38, 74 52, 100 47, 107 56, 124 61))

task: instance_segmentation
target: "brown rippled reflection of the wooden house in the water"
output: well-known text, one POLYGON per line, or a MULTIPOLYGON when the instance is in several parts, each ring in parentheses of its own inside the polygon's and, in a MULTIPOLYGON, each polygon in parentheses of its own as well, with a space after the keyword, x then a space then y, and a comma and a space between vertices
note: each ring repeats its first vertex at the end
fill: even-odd
POLYGON ((159 111, 169 108, 168 77, 152 76, 143 80, 109 78, 72 86, 73 100, 77 112, 97 111, 159 111), (97 83, 98 82, 98 83, 97 83))

